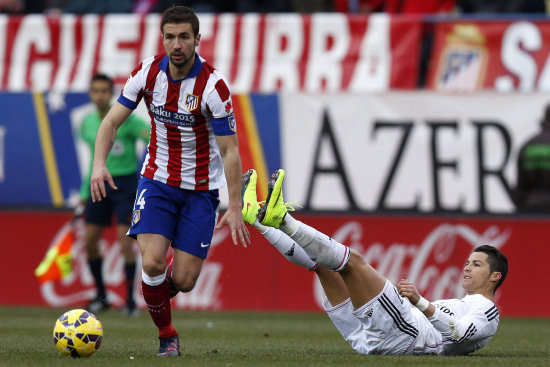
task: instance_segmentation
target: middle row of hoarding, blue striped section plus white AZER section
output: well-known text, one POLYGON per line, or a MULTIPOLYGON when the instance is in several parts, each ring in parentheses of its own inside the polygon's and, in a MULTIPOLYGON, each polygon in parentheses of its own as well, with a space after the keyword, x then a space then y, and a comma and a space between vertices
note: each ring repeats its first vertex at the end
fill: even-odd
MULTIPOLYGON (((233 96, 259 196, 282 167, 286 195, 311 211, 513 213, 516 157, 547 103, 544 93, 233 96)), ((85 93, 3 94, 0 206, 76 204, 90 162, 79 126, 91 108, 85 93)), ((149 120, 144 104, 136 113, 149 120)))

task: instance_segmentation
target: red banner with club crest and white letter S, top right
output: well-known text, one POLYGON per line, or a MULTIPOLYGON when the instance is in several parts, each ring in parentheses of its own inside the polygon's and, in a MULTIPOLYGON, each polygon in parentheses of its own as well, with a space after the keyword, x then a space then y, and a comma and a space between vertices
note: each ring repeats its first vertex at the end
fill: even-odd
POLYGON ((436 22, 428 74, 439 91, 548 90, 550 22, 490 20, 436 22))

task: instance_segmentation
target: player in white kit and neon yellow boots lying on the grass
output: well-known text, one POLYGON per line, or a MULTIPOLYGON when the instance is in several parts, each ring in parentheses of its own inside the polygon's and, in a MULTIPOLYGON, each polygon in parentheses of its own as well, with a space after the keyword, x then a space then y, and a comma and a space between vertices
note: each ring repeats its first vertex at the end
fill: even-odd
POLYGON ((353 349, 362 354, 464 355, 496 333, 496 289, 508 272, 495 247, 479 246, 466 260, 462 299, 429 302, 410 281, 391 284, 361 254, 296 220, 283 201, 285 172, 275 172, 261 206, 256 172, 243 176, 243 219, 289 261, 315 271, 326 294, 323 306, 353 349), (314 261, 315 260, 315 261, 314 261))

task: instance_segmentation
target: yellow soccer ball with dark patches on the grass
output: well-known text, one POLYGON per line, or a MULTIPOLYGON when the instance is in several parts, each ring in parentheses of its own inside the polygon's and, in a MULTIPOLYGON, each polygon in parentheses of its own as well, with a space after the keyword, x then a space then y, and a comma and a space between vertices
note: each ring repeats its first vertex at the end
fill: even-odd
POLYGON ((59 351, 71 357, 88 357, 101 345, 103 327, 91 312, 75 309, 65 312, 55 322, 53 341, 59 351))

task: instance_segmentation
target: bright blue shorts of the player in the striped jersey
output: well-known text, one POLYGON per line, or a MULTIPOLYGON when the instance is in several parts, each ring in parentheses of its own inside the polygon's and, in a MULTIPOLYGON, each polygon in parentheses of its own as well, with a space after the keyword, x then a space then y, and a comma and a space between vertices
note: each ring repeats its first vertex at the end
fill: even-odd
POLYGON ((218 220, 218 190, 185 190, 142 177, 128 235, 157 233, 172 247, 205 259, 218 220))

